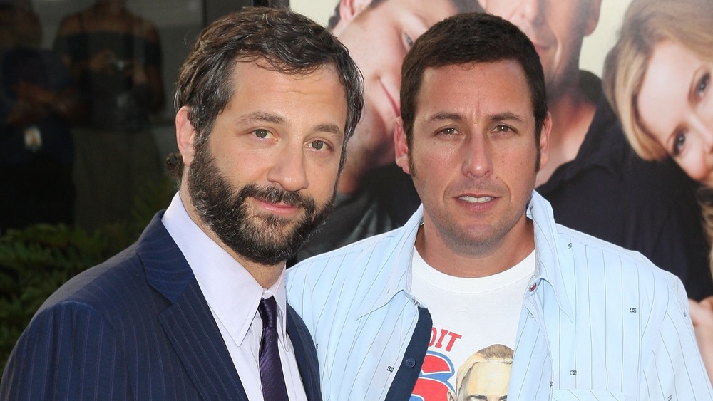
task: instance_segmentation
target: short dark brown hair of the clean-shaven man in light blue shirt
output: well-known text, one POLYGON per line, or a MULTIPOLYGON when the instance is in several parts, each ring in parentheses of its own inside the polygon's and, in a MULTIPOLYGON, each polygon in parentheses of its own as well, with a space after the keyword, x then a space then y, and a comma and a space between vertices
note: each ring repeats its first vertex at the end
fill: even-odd
MULTIPOLYGON (((547 118, 545 75, 535 46, 520 28, 491 14, 465 13, 431 26, 414 43, 401 66, 401 118, 409 148, 416 101, 426 68, 513 60, 522 66, 535 117, 535 144, 547 118)), ((539 152, 538 145, 538 152, 539 152)), ((537 158, 535 170, 540 168, 537 158)))

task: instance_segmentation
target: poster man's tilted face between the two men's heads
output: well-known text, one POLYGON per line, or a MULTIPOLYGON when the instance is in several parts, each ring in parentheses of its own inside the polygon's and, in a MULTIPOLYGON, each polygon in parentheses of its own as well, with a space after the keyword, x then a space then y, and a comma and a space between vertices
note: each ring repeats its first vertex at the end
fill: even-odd
POLYGON ((401 63, 406 52, 426 29, 456 14, 456 9, 450 0, 370 4, 371 0, 342 0, 332 32, 364 74, 364 114, 349 148, 358 147, 380 166, 394 162, 394 121, 401 114, 401 63))

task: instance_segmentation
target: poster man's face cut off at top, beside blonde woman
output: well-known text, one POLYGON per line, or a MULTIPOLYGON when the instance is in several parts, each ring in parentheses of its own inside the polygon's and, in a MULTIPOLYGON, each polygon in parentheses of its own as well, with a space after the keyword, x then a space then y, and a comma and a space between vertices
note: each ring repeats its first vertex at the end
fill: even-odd
POLYGON ((533 41, 550 98, 578 76, 583 38, 599 21, 601 0, 479 0, 488 13, 517 25, 533 41))

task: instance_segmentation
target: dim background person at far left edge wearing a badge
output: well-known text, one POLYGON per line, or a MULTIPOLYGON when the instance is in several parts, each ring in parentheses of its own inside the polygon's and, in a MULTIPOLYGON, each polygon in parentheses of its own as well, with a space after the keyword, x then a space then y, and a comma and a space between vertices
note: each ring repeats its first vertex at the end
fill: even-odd
POLYGON ((82 107, 60 56, 41 40, 29 0, 0 1, 0 231, 73 222, 70 125, 82 107))

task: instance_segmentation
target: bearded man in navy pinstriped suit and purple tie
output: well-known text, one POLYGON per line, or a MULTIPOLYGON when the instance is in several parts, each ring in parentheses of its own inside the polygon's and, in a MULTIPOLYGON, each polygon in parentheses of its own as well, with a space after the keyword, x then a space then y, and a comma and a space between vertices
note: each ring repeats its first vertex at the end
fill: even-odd
POLYGON ((284 266, 332 204, 361 75, 319 24, 257 8, 208 26, 176 86, 178 194, 41 306, 0 399, 321 400, 284 266))

